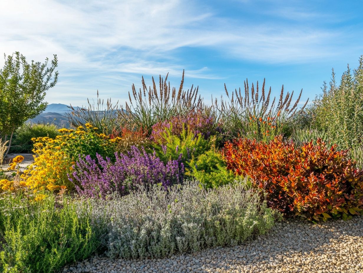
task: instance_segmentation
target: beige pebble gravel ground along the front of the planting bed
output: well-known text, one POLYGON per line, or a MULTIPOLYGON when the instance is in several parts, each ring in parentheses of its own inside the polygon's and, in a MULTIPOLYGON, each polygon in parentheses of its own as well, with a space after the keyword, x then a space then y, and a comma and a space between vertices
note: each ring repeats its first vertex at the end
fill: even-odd
POLYGON ((363 272, 363 216, 314 225, 293 219, 236 247, 164 259, 93 256, 61 272, 363 272))

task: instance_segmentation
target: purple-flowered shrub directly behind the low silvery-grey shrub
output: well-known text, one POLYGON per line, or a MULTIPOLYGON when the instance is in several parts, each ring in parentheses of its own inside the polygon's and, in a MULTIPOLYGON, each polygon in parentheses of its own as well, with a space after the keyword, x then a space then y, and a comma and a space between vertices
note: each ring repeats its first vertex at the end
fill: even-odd
POLYGON ((181 158, 164 163, 155 152, 148 154, 144 148, 136 146, 132 146, 127 154, 115 153, 115 156, 114 163, 99 154, 97 161, 90 156, 79 156, 77 165, 73 166, 73 177, 69 180, 80 195, 105 198, 115 191, 126 195, 136 185, 160 184, 167 189, 183 179, 181 158))

